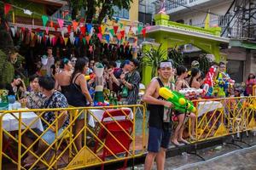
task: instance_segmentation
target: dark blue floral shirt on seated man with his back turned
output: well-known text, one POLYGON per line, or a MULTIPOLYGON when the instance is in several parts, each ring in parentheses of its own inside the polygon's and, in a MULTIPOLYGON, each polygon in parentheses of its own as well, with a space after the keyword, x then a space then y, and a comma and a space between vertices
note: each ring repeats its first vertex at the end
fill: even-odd
MULTIPOLYGON (((55 91, 49 97, 49 99, 46 99, 44 102, 44 108, 67 108, 67 106, 68 104, 67 104, 66 97, 58 91, 55 91)), ((61 113, 61 111, 59 111, 58 113, 61 113)), ((54 122, 55 112, 54 111, 45 112, 44 120, 49 123, 54 122)), ((67 115, 66 120, 62 127, 67 127, 68 123, 69 123, 69 116, 67 115)), ((47 127, 45 122, 43 122, 43 124, 44 124, 44 127, 47 127)))

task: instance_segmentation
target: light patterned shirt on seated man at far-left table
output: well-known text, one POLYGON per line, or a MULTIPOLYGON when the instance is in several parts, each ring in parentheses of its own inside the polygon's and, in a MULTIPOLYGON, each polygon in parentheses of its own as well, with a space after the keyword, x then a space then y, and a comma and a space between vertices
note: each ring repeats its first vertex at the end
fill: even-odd
POLYGON ((31 92, 27 97, 26 106, 29 109, 40 109, 44 105, 46 97, 40 92, 31 92))

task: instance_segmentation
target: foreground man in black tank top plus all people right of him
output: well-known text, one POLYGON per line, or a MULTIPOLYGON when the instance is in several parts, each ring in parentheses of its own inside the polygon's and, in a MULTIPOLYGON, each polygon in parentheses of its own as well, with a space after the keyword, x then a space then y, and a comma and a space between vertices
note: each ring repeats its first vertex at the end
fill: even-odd
MULTIPOLYGON (((172 111, 172 103, 163 99, 159 90, 162 87, 167 87, 171 90, 179 91, 183 88, 202 89, 200 98, 223 98, 223 97, 240 97, 243 94, 252 95, 255 76, 250 74, 247 79, 247 87, 245 93, 239 88, 234 88, 230 82, 230 76, 226 73, 226 65, 220 62, 218 65, 212 63, 212 68, 215 69, 212 75, 213 91, 211 95, 204 92, 206 77, 199 69, 199 62, 191 63, 191 70, 179 65, 177 68, 172 67, 172 60, 162 61, 158 67, 158 77, 154 77, 149 83, 146 93, 143 96, 143 101, 148 104, 149 119, 148 119, 148 155, 146 156, 144 169, 152 169, 154 160, 156 161, 157 169, 164 169, 166 149, 170 142, 179 146, 181 143, 189 144, 183 139, 184 119, 191 119, 191 136, 195 135, 195 114, 180 111, 172 111), (174 81, 173 81, 174 80, 174 81), (173 82, 173 83, 172 83, 173 82), (226 86, 228 84, 228 86, 226 86), (166 114, 169 118, 166 121, 166 114), (172 134, 172 116, 177 116, 177 126, 172 134)), ((192 99, 196 97, 193 96, 192 99)), ((191 99, 191 98, 190 98, 191 99)), ((235 103, 235 102, 234 102, 235 103)))

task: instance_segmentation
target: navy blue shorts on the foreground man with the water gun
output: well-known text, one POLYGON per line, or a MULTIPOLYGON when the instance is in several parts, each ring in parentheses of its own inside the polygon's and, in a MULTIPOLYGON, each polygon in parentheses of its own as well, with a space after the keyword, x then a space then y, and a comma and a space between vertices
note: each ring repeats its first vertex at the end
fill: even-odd
POLYGON ((148 127, 148 151, 159 152, 160 147, 167 149, 172 133, 156 127, 148 127))

